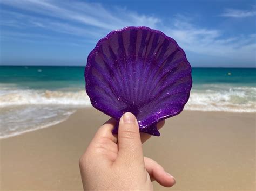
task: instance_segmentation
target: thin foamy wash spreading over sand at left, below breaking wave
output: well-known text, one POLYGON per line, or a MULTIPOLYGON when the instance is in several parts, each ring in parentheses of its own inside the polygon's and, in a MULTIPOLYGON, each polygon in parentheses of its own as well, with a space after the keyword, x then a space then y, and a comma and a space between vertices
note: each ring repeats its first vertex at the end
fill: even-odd
POLYGON ((0 138, 21 135, 65 121, 76 110, 47 105, 22 105, 0 110, 0 138))

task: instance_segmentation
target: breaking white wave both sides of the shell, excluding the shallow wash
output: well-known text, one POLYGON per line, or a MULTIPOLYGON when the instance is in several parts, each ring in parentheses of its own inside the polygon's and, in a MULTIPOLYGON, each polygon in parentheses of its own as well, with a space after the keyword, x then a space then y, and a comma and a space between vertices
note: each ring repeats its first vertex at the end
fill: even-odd
MULTIPOLYGON (((256 112, 255 87, 211 85, 192 89, 185 110, 256 112)), ((0 107, 18 105, 68 105, 91 107, 90 98, 82 91, 1 90, 0 107)))

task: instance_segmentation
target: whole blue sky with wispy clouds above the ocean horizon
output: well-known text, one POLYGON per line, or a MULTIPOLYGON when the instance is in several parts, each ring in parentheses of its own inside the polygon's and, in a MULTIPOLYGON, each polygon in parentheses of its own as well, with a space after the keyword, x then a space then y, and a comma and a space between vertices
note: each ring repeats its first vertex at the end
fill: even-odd
POLYGON ((195 67, 255 67, 255 1, 1 0, 0 65, 86 65, 97 41, 149 26, 195 67))

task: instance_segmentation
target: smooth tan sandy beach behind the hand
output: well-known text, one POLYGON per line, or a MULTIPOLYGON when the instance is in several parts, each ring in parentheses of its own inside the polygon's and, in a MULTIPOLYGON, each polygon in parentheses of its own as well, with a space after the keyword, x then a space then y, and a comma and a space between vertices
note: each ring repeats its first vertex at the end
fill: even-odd
MULTIPOLYGON (((1 139, 1 190, 82 190, 78 159, 108 116, 79 109, 68 120, 1 139)), ((255 190, 255 114, 184 111, 166 120, 144 155, 177 183, 156 190, 255 190)))

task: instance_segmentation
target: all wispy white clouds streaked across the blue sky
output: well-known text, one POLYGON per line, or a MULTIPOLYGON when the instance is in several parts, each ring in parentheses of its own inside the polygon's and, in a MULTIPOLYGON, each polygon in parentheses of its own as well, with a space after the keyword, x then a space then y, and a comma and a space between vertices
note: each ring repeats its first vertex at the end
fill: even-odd
MULTIPOLYGON (((183 15, 174 15, 171 22, 164 22, 164 18, 154 15, 143 15, 125 8, 107 9, 99 3, 54 0, 2 0, 0 3, 26 12, 4 11, 5 19, 1 25, 35 27, 83 37, 95 44, 111 30, 144 25, 164 31, 186 51, 198 54, 245 61, 253 60, 256 51, 255 34, 227 37, 224 31, 196 25, 193 18, 183 15)), ((221 16, 241 18, 253 15, 254 11, 227 9, 221 16)), ((7 37, 8 33, 5 33, 7 37)))

